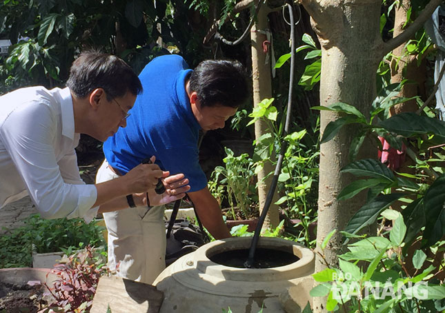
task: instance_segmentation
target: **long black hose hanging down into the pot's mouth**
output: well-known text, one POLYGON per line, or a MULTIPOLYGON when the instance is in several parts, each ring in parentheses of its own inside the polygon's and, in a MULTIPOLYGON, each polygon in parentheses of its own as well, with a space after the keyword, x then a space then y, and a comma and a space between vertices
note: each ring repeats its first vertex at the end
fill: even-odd
MULTIPOLYGON (((287 112, 286 112, 286 122, 284 124, 284 134, 283 137, 286 137, 286 134, 288 134, 289 131, 289 124, 290 124, 290 114, 291 114, 291 107, 292 107, 292 91, 293 91, 293 77, 294 77, 294 67, 295 67, 295 23, 294 23, 294 16, 293 16, 293 2, 290 1, 290 3, 286 3, 286 6, 289 9, 289 17, 290 17, 290 79, 289 79, 289 92, 288 92, 288 105, 287 105, 287 112)), ((253 235, 252 243, 250 244, 249 249, 249 256, 246 262, 244 262, 244 267, 246 268, 252 268, 253 264, 255 262, 255 250, 257 249, 258 241, 259 241, 259 234, 261 232, 261 228, 263 227, 264 220, 266 219, 267 212, 270 207, 270 203, 273 199, 273 194, 275 193, 275 189, 277 188, 277 182, 278 182, 278 176, 281 172, 281 165, 283 163, 284 159, 284 153, 287 149, 287 141, 283 141, 281 143, 281 149, 279 152, 279 157, 277 161, 277 165, 275 166, 275 172, 273 174, 272 183, 270 184, 270 189, 268 191, 266 201, 264 202, 264 208, 261 212, 261 215, 259 216, 257 227, 255 228, 255 234, 253 235)))

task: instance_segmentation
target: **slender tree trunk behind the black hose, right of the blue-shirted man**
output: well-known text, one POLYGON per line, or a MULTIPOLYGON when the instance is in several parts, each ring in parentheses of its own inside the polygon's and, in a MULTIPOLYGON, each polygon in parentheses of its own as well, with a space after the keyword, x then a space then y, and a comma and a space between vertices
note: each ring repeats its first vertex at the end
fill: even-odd
MULTIPOLYGON (((257 21, 250 30, 250 39, 252 41, 252 79, 253 79, 253 103, 261 102, 263 99, 270 99, 272 97, 272 83, 270 79, 270 61, 266 61, 266 53, 263 51, 263 42, 266 41, 266 34, 259 31, 266 30, 268 28, 267 19, 268 8, 261 6, 257 15, 257 21)), ((255 138, 259 139, 261 135, 271 133, 272 130, 268 128, 268 125, 264 121, 255 122, 255 138)), ((270 188, 270 182, 273 175, 266 176, 275 170, 271 161, 275 160, 275 155, 271 156, 270 161, 264 163, 264 168, 258 173, 258 197, 259 208, 264 208, 264 202, 270 188)), ((269 225, 273 228, 277 227, 279 223, 278 206, 273 204, 277 201, 277 193, 275 192, 274 200, 270 205, 266 220, 264 221, 264 227, 269 225)), ((261 214, 261 212, 260 212, 261 214)))

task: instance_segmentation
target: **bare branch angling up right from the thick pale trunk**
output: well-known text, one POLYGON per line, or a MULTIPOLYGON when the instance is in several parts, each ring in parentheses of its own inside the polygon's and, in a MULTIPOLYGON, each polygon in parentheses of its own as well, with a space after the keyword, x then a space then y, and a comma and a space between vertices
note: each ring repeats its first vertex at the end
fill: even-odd
POLYGON ((431 0, 424 10, 419 14, 419 17, 415 19, 415 21, 406 28, 404 32, 399 34, 397 37, 394 37, 393 39, 390 39, 384 43, 384 48, 382 51, 382 56, 388 54, 388 52, 394 50, 398 46, 402 45, 402 43, 408 41, 413 37, 415 32, 419 30, 427 19, 431 17, 431 14, 433 14, 434 10, 439 6, 439 4, 442 3, 442 0, 431 0))

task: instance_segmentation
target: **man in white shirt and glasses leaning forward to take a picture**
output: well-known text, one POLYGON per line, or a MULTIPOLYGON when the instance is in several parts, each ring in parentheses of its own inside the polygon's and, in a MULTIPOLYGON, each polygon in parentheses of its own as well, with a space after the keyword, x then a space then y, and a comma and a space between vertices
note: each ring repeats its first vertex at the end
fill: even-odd
POLYGON ((155 164, 138 165, 112 181, 83 183, 75 153, 80 134, 105 141, 126 127, 142 86, 124 61, 98 52, 72 63, 66 85, 21 88, 0 97, 0 208, 29 194, 46 219, 89 222, 97 212, 185 195, 190 187, 184 174, 168 176, 155 164), (160 178, 166 192, 159 195, 154 188, 160 178))

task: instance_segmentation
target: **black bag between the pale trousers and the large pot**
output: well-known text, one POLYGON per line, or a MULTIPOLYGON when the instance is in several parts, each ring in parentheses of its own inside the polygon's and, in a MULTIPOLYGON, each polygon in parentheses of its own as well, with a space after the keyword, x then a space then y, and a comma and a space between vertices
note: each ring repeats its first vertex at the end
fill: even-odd
POLYGON ((181 200, 175 202, 170 221, 166 222, 166 266, 208 242, 207 234, 204 232, 196 212, 195 215, 197 216, 199 228, 186 219, 176 219, 180 203, 181 200))

